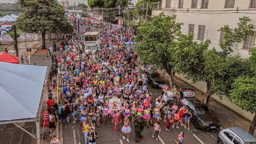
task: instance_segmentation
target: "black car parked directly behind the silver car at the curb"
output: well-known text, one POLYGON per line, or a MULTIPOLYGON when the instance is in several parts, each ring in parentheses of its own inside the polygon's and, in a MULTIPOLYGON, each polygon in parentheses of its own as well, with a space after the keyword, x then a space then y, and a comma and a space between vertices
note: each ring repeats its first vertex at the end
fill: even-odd
POLYGON ((220 128, 220 121, 212 114, 211 110, 200 100, 189 95, 188 97, 180 99, 179 106, 186 106, 192 114, 190 119, 194 122, 196 129, 212 130, 220 128))

